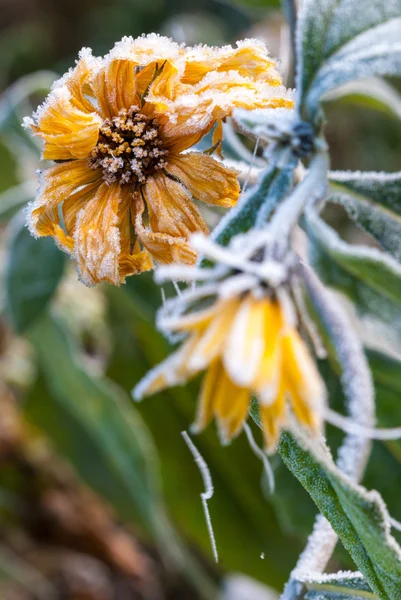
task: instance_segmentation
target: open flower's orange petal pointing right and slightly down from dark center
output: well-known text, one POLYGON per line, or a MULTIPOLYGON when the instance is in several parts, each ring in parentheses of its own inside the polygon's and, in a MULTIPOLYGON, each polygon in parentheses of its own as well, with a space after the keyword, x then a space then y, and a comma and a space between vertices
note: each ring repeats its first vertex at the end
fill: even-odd
POLYGON ((227 208, 238 200, 237 172, 211 156, 198 152, 172 155, 168 157, 166 170, 178 177, 198 200, 227 208))

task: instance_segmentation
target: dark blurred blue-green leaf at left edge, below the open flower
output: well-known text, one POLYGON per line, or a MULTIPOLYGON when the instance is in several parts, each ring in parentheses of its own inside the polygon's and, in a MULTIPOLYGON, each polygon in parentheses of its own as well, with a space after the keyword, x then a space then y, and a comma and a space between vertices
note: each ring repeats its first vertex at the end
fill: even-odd
POLYGON ((5 277, 6 310, 19 333, 46 310, 63 276, 66 259, 51 238, 34 239, 21 221, 18 218, 12 223, 5 277))

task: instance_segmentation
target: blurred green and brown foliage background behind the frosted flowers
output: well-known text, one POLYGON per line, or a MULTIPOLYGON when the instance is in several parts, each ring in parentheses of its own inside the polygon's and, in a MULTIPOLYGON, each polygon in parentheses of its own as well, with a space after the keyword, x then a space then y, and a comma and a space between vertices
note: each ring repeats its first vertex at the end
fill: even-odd
MULTIPOLYGON (((202 480, 181 437, 199 382, 140 406, 130 397, 169 351, 154 328, 160 289, 150 274, 120 289, 87 289, 52 240, 30 238, 23 207, 35 194, 40 149, 20 123, 81 47, 104 54, 123 35, 156 31, 213 45, 258 37, 290 80, 279 3, 0 0, 0 14, 0 597, 278 597, 311 530, 311 501, 279 457, 271 494, 245 436, 223 448, 210 427, 195 442, 215 488, 214 563, 202 480), (38 307, 47 288, 52 300, 38 307)), ((399 168, 394 115, 357 94, 328 103, 327 115, 335 168, 399 168)), ((339 210, 330 218, 348 231, 339 210)), ((341 402, 335 376, 321 368, 341 402)), ((380 479, 398 519, 400 461, 398 446, 376 444, 366 476, 369 487, 380 479)), ((341 549, 331 566, 352 567, 341 549)))

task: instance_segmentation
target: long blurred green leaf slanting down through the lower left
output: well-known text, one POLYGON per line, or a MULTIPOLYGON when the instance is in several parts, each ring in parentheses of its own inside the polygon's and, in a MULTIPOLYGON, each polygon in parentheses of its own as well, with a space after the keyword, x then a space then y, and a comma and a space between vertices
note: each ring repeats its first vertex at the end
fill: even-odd
POLYGON ((208 576, 184 551, 165 512, 153 442, 131 399, 78 364, 68 332, 44 316, 29 332, 50 397, 37 389, 24 410, 68 458, 83 481, 129 523, 150 531, 176 565, 214 597, 208 576))

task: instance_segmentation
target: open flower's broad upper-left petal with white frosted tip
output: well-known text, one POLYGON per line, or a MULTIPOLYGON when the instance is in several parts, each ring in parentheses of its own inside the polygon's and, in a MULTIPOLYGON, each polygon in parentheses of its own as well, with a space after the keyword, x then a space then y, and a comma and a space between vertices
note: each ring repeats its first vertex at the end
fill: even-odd
POLYGON ((79 110, 66 86, 56 88, 46 104, 28 121, 35 135, 45 140, 43 158, 86 158, 96 146, 101 118, 97 112, 79 110))

